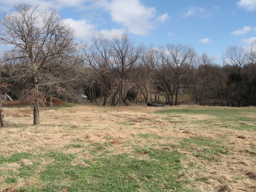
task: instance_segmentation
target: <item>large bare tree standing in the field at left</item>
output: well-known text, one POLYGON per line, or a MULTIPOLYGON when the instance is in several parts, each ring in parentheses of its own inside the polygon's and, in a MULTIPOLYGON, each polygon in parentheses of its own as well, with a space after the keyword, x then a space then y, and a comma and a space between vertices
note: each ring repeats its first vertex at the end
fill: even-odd
POLYGON ((38 6, 18 4, 0 20, 0 43, 11 45, 9 52, 20 59, 14 78, 31 80, 29 95, 34 104, 34 124, 40 124, 39 105, 44 95, 40 87, 76 78, 63 73, 75 62, 68 66, 62 62, 74 56, 74 30, 64 24, 54 9, 40 11, 38 6))

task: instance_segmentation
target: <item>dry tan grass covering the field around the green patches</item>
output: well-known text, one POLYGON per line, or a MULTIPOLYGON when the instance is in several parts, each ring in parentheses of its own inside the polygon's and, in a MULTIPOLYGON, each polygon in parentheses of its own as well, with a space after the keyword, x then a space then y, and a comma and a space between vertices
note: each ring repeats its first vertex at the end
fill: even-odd
MULTIPOLYGON (((188 106, 166 106, 164 109, 182 109, 188 106)), ((201 107, 209 108, 209 107, 201 107)), ((182 162, 186 177, 191 180, 190 187, 202 192, 226 190, 256 191, 256 180, 246 175, 256 171, 256 156, 246 152, 251 146, 256 146, 256 135, 252 131, 226 128, 216 122, 215 128, 207 128, 206 124, 194 125, 195 121, 213 121, 210 115, 154 114, 156 110, 146 106, 116 106, 104 107, 97 105, 72 106, 58 110, 41 108, 40 126, 33 126, 32 108, 4 108, 6 127, 0 129, 0 155, 9 156, 20 152, 47 153, 58 150, 69 154, 79 154, 72 164, 87 166, 81 158, 92 159, 93 156, 81 148, 67 148, 72 140, 82 140, 87 146, 91 143, 103 144, 112 142, 114 148, 111 154, 132 153, 131 145, 147 146, 154 138, 134 140, 134 135, 155 134, 167 139, 157 140, 159 145, 176 146, 183 138, 204 137, 212 140, 224 138, 225 145, 230 148, 229 154, 221 155, 216 161, 198 159, 192 154, 186 154, 182 162), (183 122, 180 122, 180 120, 183 122), (183 131, 181 131, 183 129, 183 131), (242 137, 239 137, 242 136, 242 137), (4 142, 3 142, 4 141, 4 142), (135 143, 136 142, 136 143, 135 143), (191 167, 191 164, 194 164, 191 167), (198 180, 198 178, 208 178, 198 180), (224 188, 223 186, 228 186, 224 188)), ((244 114, 246 116, 246 114, 244 114)), ((248 117, 253 115, 249 114, 248 117)), ((255 122, 254 122, 255 123, 255 122)), ((209 148, 211 146, 208 146, 209 148)), ((169 148, 178 150, 179 148, 169 148)), ((28 163, 23 160, 20 163, 28 163)), ((45 162, 48 164, 49 162, 45 162)), ((8 164, 0 170, 15 169, 19 164, 8 164)), ((42 168, 43 169, 43 168, 42 168)), ((40 170, 39 170, 40 171, 40 170)), ((0 180, 4 180, 1 178, 0 180)), ((31 178, 31 183, 36 178, 31 178)), ((24 183, 18 181, 16 187, 24 183)), ((2 190, 2 188, 0 188, 2 190)))

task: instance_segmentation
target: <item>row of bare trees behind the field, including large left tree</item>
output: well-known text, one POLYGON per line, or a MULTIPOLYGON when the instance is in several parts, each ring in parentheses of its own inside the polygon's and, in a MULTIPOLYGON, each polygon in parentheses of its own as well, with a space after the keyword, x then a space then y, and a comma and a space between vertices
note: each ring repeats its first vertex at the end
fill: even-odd
POLYGON ((2 94, 33 104, 34 124, 40 105, 52 106, 52 96, 76 101, 129 105, 130 101, 178 104, 179 88, 192 87, 196 104, 211 99, 222 106, 256 105, 256 42, 229 46, 218 64, 192 46, 145 46, 127 34, 90 43, 77 42, 74 30, 54 9, 18 4, 0 19, 0 121, 4 126, 2 94))

